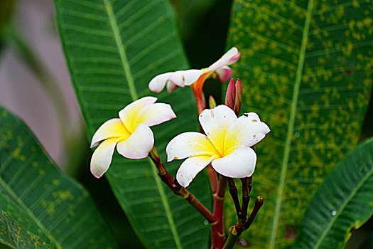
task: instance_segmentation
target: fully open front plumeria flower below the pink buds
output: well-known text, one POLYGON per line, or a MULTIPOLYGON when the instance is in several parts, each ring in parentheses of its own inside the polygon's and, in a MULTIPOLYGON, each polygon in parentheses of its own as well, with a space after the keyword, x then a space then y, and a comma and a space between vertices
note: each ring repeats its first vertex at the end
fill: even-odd
POLYGON ((270 132, 258 115, 249 112, 237 118, 232 109, 219 105, 203 110, 199 120, 206 135, 185 132, 174 137, 166 147, 168 161, 187 158, 176 174, 179 184, 187 187, 210 163, 223 176, 252 176, 256 154, 250 147, 270 132))

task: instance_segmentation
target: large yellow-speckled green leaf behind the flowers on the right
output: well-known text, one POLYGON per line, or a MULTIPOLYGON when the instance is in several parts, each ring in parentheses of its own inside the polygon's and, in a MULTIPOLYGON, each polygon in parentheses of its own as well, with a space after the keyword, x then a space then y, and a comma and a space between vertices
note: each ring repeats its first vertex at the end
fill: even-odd
POLYGON ((233 65, 242 110, 271 128, 253 178, 264 206, 243 235, 253 248, 291 245, 310 196, 356 146, 372 89, 372 33, 372 1, 234 1, 228 45, 242 53, 233 65))

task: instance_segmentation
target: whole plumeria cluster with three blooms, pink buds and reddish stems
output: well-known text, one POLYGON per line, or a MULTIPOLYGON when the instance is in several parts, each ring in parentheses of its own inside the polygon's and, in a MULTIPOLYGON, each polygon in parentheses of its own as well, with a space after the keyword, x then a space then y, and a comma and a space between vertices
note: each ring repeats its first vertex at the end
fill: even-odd
POLYGON ((91 144, 91 148, 98 145, 91 159, 91 171, 97 178, 109 169, 115 147, 121 156, 129 159, 149 157, 166 186, 188 201, 210 223, 212 248, 232 248, 242 231, 250 227, 263 205, 263 197, 257 196, 248 216, 252 174, 256 166, 254 145, 266 137, 270 132, 269 127, 254 112, 237 117, 242 103, 241 80, 237 79, 236 83, 230 80, 225 105, 216 106, 214 98, 210 96, 211 109, 205 109, 206 100, 202 91, 207 78, 217 78, 222 82, 231 78, 229 65, 235 63, 239 56, 237 48, 231 48, 208 68, 163 73, 148 84, 153 92, 161 92, 165 87, 168 92, 172 92, 185 85, 193 89, 200 132, 178 134, 168 143, 167 161, 184 159, 175 178, 161 162, 150 127, 171 120, 176 115, 170 105, 156 103, 156 97, 142 97, 124 107, 119 112, 119 118, 108 120, 97 129, 91 144), (213 212, 185 189, 206 167, 214 196, 213 212), (242 182, 242 204, 234 178, 240 178, 242 182), (237 224, 229 229, 229 237, 225 240, 222 200, 227 184, 236 209, 237 224))

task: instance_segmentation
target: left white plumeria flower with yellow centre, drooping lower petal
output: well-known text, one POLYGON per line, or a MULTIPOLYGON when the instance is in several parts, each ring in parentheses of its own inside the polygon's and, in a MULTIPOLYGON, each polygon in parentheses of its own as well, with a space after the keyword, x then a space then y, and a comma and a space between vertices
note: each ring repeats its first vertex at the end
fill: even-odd
POLYGON ((109 169, 114 148, 123 157, 141 159, 148 157, 154 137, 149 127, 176 117, 168 104, 155 103, 156 97, 142 97, 124 107, 119 118, 104 122, 92 137, 91 148, 96 147, 91 159, 91 172, 100 178, 109 169))

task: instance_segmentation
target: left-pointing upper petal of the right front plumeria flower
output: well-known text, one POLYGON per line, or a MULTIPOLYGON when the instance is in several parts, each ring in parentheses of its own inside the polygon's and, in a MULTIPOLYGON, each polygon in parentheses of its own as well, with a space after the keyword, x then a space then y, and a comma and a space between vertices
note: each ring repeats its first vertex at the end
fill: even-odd
POLYGON ((166 147, 167 161, 196 155, 215 155, 217 151, 209 139, 198 132, 185 132, 174 137, 166 147))

